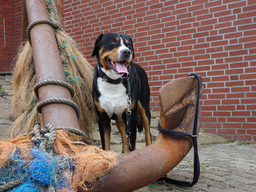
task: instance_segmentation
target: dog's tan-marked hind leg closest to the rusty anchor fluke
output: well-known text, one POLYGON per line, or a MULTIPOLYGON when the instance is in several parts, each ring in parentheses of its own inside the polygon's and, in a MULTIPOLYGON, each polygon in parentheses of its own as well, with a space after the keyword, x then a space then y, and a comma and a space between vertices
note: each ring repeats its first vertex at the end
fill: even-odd
POLYGON ((146 146, 152 144, 151 140, 151 133, 150 133, 150 110, 149 108, 145 110, 145 108, 141 105, 140 101, 138 102, 138 111, 140 114, 140 117, 143 122, 143 127, 145 131, 145 141, 146 141, 146 146))

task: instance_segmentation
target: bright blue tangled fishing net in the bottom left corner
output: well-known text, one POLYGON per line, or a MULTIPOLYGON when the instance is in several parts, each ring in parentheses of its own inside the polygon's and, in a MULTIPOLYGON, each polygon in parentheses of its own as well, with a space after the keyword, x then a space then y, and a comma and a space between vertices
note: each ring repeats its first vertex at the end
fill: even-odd
POLYGON ((68 157, 51 156, 38 147, 25 149, 23 153, 16 150, 0 167, 0 185, 20 180, 21 184, 8 192, 44 192, 49 186, 56 191, 72 191, 73 171, 73 162, 68 157))

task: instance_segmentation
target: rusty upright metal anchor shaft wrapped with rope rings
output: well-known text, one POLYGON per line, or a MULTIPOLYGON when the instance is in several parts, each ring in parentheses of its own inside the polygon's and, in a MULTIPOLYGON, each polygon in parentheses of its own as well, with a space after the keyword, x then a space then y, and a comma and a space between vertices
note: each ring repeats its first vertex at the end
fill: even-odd
MULTIPOLYGON (((25 0, 28 23, 40 19, 49 20, 45 0, 25 0)), ((49 24, 37 24, 31 31, 31 42, 37 82, 56 79, 66 82, 61 57, 52 27, 49 24)), ((38 89, 39 101, 48 98, 66 98, 72 100, 70 91, 60 85, 44 85, 38 89)), ((51 123, 54 127, 68 126, 76 129, 79 123, 72 107, 66 104, 49 104, 41 109, 44 127, 51 123)))

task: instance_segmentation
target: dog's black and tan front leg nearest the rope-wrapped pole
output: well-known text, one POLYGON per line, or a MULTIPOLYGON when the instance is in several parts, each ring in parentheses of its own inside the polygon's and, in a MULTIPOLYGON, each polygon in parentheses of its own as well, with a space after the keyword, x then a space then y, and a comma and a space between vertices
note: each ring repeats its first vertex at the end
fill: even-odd
POLYGON ((101 138, 101 144, 103 150, 110 150, 110 118, 109 117, 99 117, 98 118, 98 128, 101 138))

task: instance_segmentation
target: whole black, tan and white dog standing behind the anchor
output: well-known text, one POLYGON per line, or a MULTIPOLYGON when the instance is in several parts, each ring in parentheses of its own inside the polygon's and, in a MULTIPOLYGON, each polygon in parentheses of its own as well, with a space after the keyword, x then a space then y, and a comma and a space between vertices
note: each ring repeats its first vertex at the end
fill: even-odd
POLYGON ((134 59, 132 39, 124 34, 100 34, 92 57, 93 100, 103 150, 110 150, 110 120, 115 120, 122 137, 122 153, 135 150, 136 130, 145 131, 146 146, 152 143, 149 110, 150 90, 146 72, 134 59))

